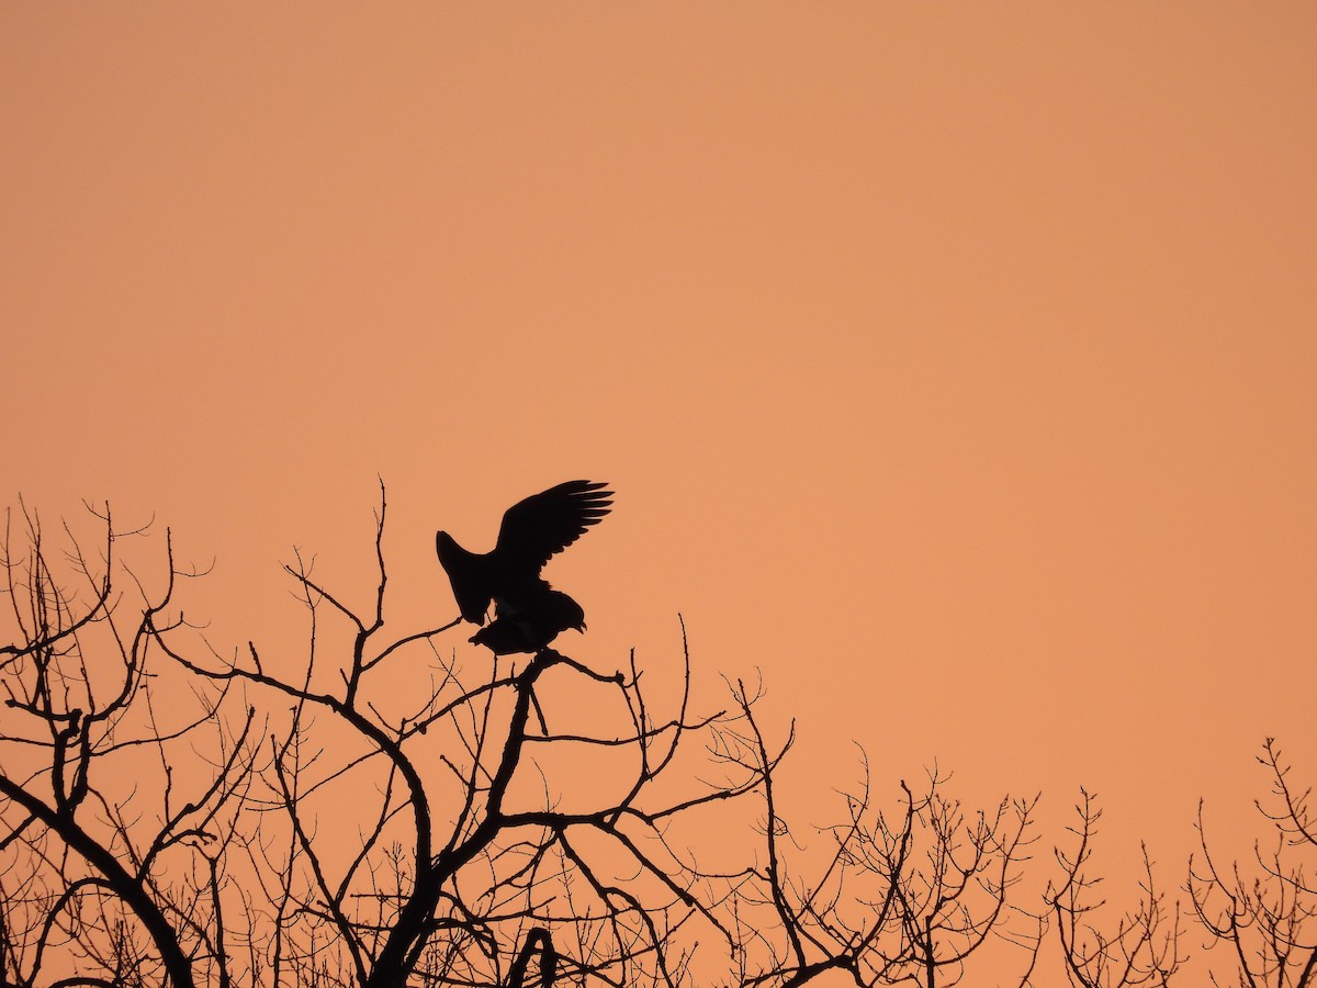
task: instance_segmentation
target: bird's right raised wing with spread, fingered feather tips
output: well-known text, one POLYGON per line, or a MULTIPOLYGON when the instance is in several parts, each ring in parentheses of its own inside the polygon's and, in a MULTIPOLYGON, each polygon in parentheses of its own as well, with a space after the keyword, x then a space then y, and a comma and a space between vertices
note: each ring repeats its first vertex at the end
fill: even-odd
POLYGON ((607 483, 568 481, 510 507, 503 515, 494 555, 503 572, 535 576, 549 557, 579 539, 587 527, 608 514, 612 491, 607 483), (529 570, 529 573, 527 573, 529 570))

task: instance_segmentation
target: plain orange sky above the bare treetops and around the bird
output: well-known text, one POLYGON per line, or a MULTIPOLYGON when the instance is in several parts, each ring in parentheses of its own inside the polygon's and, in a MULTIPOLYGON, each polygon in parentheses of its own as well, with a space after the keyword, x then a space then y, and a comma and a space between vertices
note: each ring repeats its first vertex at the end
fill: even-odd
MULTIPOLYGON (((0 7, 5 499, 456 613, 573 477, 573 655, 764 671, 798 798, 1317 776, 1317 7, 0 7), (362 576, 365 573, 365 576, 362 576)), ((396 615, 396 617, 395 617, 396 615)), ((458 639, 454 639, 457 642, 458 639)), ((477 661, 473 655, 471 661, 477 661)))

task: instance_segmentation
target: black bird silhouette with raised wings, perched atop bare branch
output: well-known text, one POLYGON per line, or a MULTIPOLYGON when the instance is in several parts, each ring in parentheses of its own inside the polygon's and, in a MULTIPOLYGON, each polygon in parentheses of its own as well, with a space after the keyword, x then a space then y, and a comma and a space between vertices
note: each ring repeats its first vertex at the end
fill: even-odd
POLYGON ((435 536, 435 551, 453 586, 465 620, 483 624, 490 605, 495 619, 471 642, 498 655, 535 652, 560 631, 585 628, 585 611, 540 578, 544 564, 608 514, 607 483, 568 481, 510 507, 498 541, 486 553, 464 549, 448 532, 435 536))

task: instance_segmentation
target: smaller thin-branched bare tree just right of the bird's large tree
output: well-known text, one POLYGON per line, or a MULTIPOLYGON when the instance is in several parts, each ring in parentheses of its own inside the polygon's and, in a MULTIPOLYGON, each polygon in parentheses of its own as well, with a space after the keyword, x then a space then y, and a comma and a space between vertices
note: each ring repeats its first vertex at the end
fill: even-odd
POLYGON ((1021 931, 1006 921, 1018 912, 1008 900, 1027 860, 1036 797, 967 811, 934 769, 918 794, 902 781, 897 808, 882 810, 865 759, 859 793, 846 797, 847 818, 822 829, 827 855, 806 877, 789 862, 799 844, 773 777, 792 736, 772 751, 755 719, 757 694, 743 682, 734 694, 745 731, 720 755, 759 773, 764 800, 764 858, 738 900, 741 984, 801 985, 842 971, 859 985, 952 985, 993 934, 1022 948, 1027 971, 1036 923, 1021 931))

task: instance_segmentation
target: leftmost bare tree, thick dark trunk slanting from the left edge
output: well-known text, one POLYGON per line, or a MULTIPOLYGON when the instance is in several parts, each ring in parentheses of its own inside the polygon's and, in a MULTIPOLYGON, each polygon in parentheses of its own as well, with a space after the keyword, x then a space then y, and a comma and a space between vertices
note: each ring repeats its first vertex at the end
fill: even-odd
POLYGON ((140 532, 116 530, 108 508, 99 518, 96 557, 67 539, 67 581, 36 514, 5 519, 17 640, 0 648, 0 972, 16 985, 62 967, 80 984, 223 983, 219 902, 254 713, 216 719, 223 690, 198 690, 190 714, 157 711, 153 668, 180 622, 165 615, 182 574, 166 535, 162 586, 148 589, 116 557, 140 532), (200 773, 175 776, 182 751, 200 773))

